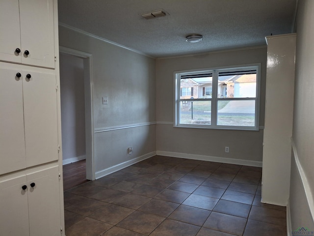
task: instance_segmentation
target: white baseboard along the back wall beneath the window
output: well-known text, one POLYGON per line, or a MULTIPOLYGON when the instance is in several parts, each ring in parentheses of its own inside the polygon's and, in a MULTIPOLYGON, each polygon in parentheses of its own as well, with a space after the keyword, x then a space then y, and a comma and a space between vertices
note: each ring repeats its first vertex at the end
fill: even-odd
POLYGON ((217 157, 217 156, 205 156, 205 155, 196 155, 196 154, 186 154, 186 153, 170 152, 170 151, 157 151, 156 153, 157 155, 160 155, 160 156, 171 156, 171 157, 179 157, 179 158, 186 158, 186 159, 192 159, 192 160, 213 161, 213 162, 222 162, 222 163, 235 164, 235 165, 262 167, 262 161, 250 161, 250 160, 233 159, 233 158, 217 157))

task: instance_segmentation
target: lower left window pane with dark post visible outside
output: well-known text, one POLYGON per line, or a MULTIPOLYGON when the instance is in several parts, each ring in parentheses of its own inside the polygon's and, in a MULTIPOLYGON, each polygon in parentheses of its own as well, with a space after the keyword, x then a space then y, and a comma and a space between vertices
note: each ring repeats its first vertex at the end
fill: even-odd
POLYGON ((180 124, 210 124, 211 101, 181 101, 180 124))

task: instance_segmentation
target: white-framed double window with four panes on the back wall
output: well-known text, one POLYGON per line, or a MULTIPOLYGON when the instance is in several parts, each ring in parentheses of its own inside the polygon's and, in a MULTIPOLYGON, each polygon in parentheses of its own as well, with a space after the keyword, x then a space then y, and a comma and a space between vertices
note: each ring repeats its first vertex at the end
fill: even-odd
POLYGON ((260 64, 175 73, 175 126, 259 129, 260 64))

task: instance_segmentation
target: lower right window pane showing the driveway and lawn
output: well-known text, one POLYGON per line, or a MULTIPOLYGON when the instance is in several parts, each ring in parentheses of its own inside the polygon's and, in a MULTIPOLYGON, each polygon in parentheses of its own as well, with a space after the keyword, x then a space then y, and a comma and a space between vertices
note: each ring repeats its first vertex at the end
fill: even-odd
POLYGON ((255 126, 255 101, 218 101, 217 125, 255 126))

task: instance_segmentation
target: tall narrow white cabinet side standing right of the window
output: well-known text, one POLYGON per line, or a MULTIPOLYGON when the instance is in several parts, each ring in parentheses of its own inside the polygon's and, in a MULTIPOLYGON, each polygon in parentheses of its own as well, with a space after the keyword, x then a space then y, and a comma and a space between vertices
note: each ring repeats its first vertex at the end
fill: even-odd
POLYGON ((293 124, 296 34, 267 40, 262 202, 287 206, 293 124))

